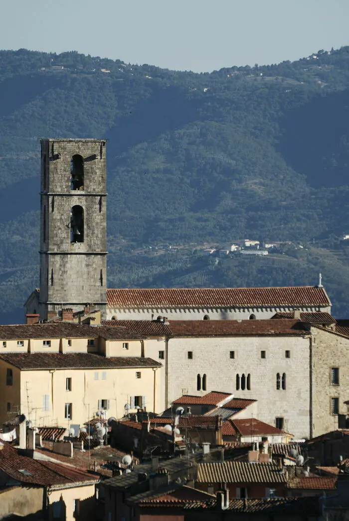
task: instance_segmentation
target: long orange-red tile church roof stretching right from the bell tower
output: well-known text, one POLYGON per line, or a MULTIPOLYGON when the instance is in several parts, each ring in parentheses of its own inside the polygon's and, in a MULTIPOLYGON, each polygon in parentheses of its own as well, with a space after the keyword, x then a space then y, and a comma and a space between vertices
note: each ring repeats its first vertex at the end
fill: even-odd
POLYGON ((329 306, 324 288, 128 288, 107 289, 114 308, 329 306))

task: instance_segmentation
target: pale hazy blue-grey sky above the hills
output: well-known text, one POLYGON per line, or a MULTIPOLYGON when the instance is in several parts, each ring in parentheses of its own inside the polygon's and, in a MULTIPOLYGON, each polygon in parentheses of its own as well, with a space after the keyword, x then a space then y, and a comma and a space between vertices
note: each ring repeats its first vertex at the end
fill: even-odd
POLYGON ((348 45, 348 23, 348 0, 0 0, 0 48, 199 72, 348 45))

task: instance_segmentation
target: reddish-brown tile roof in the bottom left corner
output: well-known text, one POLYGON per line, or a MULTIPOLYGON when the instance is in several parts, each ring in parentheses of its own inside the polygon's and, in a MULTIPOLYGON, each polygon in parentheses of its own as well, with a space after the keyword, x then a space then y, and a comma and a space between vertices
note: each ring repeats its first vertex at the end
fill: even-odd
POLYGON ((22 456, 6 442, 0 450, 0 469, 16 481, 49 487, 99 481, 97 476, 75 467, 22 456))

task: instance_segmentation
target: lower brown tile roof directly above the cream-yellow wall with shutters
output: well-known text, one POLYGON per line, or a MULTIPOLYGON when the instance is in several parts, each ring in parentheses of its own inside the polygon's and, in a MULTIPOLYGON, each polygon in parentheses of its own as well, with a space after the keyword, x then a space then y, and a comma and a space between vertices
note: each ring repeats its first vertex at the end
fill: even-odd
POLYGON ((105 357, 92 353, 6 353, 1 354, 8 364, 19 369, 108 369, 117 367, 161 367, 152 358, 140 356, 105 357))

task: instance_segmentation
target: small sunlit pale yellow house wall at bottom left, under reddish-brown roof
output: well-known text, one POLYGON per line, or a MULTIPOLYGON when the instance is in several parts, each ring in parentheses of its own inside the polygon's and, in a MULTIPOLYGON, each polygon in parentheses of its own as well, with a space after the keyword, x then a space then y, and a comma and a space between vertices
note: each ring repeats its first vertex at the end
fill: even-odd
POLYGON ((53 519, 53 504, 57 501, 62 503, 62 512, 65 512, 65 521, 75 521, 74 500, 80 500, 79 519, 94 521, 95 519, 95 498, 94 485, 73 487, 62 490, 52 490, 47 495, 49 498, 49 519, 53 519))

